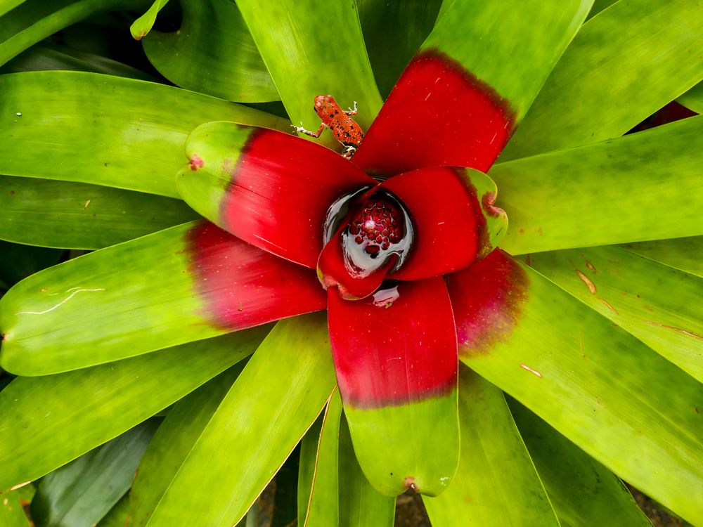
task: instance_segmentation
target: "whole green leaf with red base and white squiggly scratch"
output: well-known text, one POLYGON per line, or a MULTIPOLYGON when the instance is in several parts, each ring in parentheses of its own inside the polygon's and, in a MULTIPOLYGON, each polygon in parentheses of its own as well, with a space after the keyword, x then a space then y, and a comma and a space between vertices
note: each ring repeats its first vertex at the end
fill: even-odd
POLYGON ((0 364, 46 375, 324 307, 313 273, 211 223, 185 223, 16 285, 0 300, 0 364))

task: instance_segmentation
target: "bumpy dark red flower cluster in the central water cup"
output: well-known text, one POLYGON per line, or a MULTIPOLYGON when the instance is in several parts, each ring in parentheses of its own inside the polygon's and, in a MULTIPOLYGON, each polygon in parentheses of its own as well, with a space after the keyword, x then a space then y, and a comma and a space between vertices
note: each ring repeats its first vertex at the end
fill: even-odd
POLYGON ((395 204, 389 200, 372 198, 359 208, 349 223, 349 233, 354 236, 357 244, 366 242, 364 251, 373 257, 401 240, 402 218, 403 215, 395 204))

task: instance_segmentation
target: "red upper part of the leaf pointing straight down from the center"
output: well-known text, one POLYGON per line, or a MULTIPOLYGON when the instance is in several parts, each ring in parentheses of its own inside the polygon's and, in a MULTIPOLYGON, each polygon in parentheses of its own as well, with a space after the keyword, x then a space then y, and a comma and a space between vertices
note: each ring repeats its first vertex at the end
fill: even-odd
POLYGON ((441 277, 399 282, 357 301, 329 289, 328 320, 345 407, 402 405, 456 388, 456 333, 441 277))

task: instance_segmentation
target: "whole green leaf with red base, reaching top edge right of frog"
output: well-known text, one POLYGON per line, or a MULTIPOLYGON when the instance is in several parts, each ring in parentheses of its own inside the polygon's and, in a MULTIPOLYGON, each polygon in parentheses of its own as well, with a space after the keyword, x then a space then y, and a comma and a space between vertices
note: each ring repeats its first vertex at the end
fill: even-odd
POLYGON ((538 17, 536 2, 447 5, 354 155, 370 174, 437 165, 486 171, 591 1, 560 2, 538 17))

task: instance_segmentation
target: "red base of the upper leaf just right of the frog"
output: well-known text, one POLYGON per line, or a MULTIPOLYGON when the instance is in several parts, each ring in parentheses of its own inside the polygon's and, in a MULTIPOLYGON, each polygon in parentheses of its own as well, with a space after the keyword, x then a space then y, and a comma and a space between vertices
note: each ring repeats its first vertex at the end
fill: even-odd
POLYGON ((352 161, 379 176, 438 166, 485 172, 514 122, 508 101, 491 86, 427 49, 406 67, 352 161))

